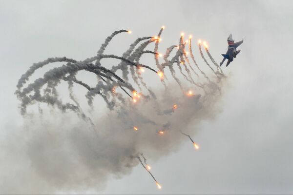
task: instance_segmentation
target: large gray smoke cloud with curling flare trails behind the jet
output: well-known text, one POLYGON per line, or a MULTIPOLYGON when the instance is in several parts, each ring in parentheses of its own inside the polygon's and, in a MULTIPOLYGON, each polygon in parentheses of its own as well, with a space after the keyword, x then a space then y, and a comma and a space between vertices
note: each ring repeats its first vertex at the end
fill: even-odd
MULTIPOLYGON (((147 153, 148 159, 165 156, 178 149, 185 140, 178 136, 178 129, 184 129, 184 132, 192 136, 202 120, 217 115, 222 96, 218 89, 225 85, 227 78, 218 75, 217 82, 203 83, 204 94, 193 89, 194 94, 187 94, 187 80, 181 82, 176 78, 173 68, 174 63, 184 59, 182 39, 173 57, 169 58, 176 46, 167 49, 164 62, 160 64, 162 69, 159 70, 165 75, 167 71, 164 69, 168 67, 179 87, 169 80, 166 90, 163 85, 149 90, 154 96, 148 97, 143 93, 140 97, 136 93, 132 95, 133 91, 136 92, 135 87, 115 72, 125 70, 128 66, 134 70, 144 67, 151 70, 146 71, 147 74, 157 74, 153 68, 139 63, 142 54, 151 53, 146 52, 145 48, 154 40, 147 38, 149 40, 135 49, 140 42, 137 39, 122 57, 104 54, 110 40, 120 32, 126 31, 115 31, 109 36, 96 57, 83 61, 47 59, 34 64, 21 76, 15 94, 21 101, 20 109, 24 120, 21 127, 15 127, 15 132, 9 133, 6 140, 1 140, 0 193, 78 193, 89 188, 101 189, 108 177, 129 174, 139 163, 145 167, 139 157, 142 151, 147 153), (120 65, 114 65, 115 69, 107 69, 101 61, 105 58, 113 58, 120 65), (55 61, 66 64, 53 68, 41 78, 26 84, 36 69, 55 61), (77 79, 79 71, 94 74, 99 78, 98 82, 87 84, 77 79), (63 102, 58 94, 57 86, 63 81, 68 83, 68 94, 73 103, 63 102), (81 109, 82 100, 78 100, 73 94, 76 86, 86 89, 85 101, 93 109, 87 116, 81 109), (108 107, 107 110, 102 110, 102 115, 94 113, 101 108, 101 105, 93 103, 96 95, 108 107), (38 104, 39 110, 42 110, 42 117, 28 115, 28 107, 34 104, 38 104), (138 131, 133 130, 134 126, 138 127, 138 131), (158 130, 163 130, 164 134, 158 134, 158 130)), ((153 51, 152 54, 156 55, 155 53, 157 52, 153 51)), ((138 71, 134 74, 139 75, 138 71)), ((158 77, 158 83, 159 81, 158 77)), ((147 82, 144 82, 144 86, 148 87, 147 82)))

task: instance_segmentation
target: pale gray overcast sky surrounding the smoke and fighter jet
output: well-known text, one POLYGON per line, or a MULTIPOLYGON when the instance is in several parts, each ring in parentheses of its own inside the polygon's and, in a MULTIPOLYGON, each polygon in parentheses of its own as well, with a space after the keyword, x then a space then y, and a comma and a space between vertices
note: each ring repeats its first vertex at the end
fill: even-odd
MULTIPOLYGON (((160 45, 163 51, 177 44, 185 32, 195 40, 207 40, 211 54, 220 62, 232 33, 233 39, 244 38, 244 43, 235 61, 222 68, 229 79, 220 100, 221 113, 197 127, 194 139, 201 149, 195 152, 187 139, 174 152, 148 159, 163 186, 160 191, 146 171, 136 166, 131 173, 112 176, 104 188, 88 189, 88 193, 292 194, 292 23, 290 0, 1 0, 1 139, 15 127, 21 128, 14 92, 17 80, 34 62, 55 56, 94 56, 106 36, 131 29, 131 37, 113 40, 107 50, 121 54, 133 39, 153 36, 162 25, 166 26, 160 45)), ((155 86, 151 79, 149 83, 155 86)))

